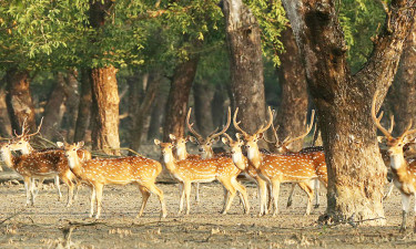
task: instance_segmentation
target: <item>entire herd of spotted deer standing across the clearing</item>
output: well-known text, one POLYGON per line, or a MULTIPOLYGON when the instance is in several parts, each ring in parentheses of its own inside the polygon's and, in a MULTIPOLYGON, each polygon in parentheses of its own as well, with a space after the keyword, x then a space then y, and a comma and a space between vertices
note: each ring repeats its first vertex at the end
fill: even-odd
MULTIPOLYGON (((379 137, 381 152, 386 166, 390 166, 390 176, 394 185, 403 196, 403 221, 402 230, 406 228, 406 215, 409 209, 409 198, 416 195, 416 160, 412 159, 414 152, 410 149, 415 141, 408 139, 408 135, 416 133, 410 129, 412 122, 406 131, 398 137, 392 136, 393 118, 390 128, 387 131, 381 125, 383 113, 377 117, 375 112, 374 96, 372 106, 372 117, 376 126, 385 135, 379 137), (383 146, 382 146, 383 145, 383 146)), ((325 164, 324 149, 321 146, 306 147, 300 152, 292 152, 291 144, 304 138, 312 129, 314 113, 306 132, 297 137, 287 137, 281 142, 273 125, 273 112, 268 107, 268 121, 255 133, 248 134, 240 127, 237 122, 239 108, 233 115, 235 141, 225 132, 231 124, 231 108, 227 112, 227 122, 221 132, 215 129, 207 137, 203 137, 193 129, 190 124, 189 111, 186 125, 194 135, 186 137, 175 137, 170 135, 170 143, 162 143, 154 139, 154 144, 160 146, 163 164, 171 176, 179 183, 181 189, 179 214, 183 211, 183 200, 186 199, 186 215, 190 212, 191 185, 196 184, 196 198, 199 199, 199 184, 219 180, 224 187, 224 204, 222 214, 226 214, 231 207, 233 198, 239 193, 244 212, 248 214, 250 203, 245 187, 239 183, 237 176, 245 173, 254 179, 258 187, 260 216, 266 215, 273 208, 273 216, 278 212, 278 193, 282 183, 292 183, 291 196, 287 206, 292 204, 294 187, 298 185, 308 196, 305 215, 311 212, 314 191, 318 189, 319 183, 327 186, 327 170, 325 164), (264 132, 273 128, 275 141, 265 138, 264 132), (230 146, 230 153, 214 154, 212 146, 222 137, 222 142, 230 146), (275 153, 260 149, 257 142, 264 139, 273 143, 275 153), (196 143, 201 155, 190 155, 186 152, 186 142, 196 143), (245 146, 246 153, 243 153, 245 146), (267 195, 268 193, 268 195, 267 195)), ((23 177, 27 193, 27 205, 33 205, 38 190, 43 178, 54 177, 59 199, 62 195, 59 188, 59 179, 68 186, 67 206, 71 206, 77 198, 79 186, 83 183, 91 188, 91 210, 90 217, 94 214, 94 201, 97 203, 95 218, 101 214, 102 190, 104 185, 126 185, 135 183, 142 194, 142 205, 138 217, 143 214, 143 209, 151 194, 159 197, 161 204, 161 216, 166 217, 168 211, 164 204, 163 191, 155 185, 156 177, 162 172, 162 165, 158 160, 142 156, 129 156, 121 158, 91 158, 87 149, 82 149, 83 142, 77 144, 63 144, 58 142, 58 148, 34 151, 29 141, 40 131, 27 134, 24 124, 21 135, 17 135, 7 143, 1 144, 0 153, 6 165, 14 169, 23 177), (20 152, 17 156, 12 152, 20 152), (35 187, 35 179, 39 185, 35 187), (77 185, 77 194, 73 188, 77 185)), ((385 198, 389 195, 392 187, 385 198)), ((316 195, 315 206, 318 206, 318 195, 316 195)), ((415 205, 416 211, 416 205, 415 205)))

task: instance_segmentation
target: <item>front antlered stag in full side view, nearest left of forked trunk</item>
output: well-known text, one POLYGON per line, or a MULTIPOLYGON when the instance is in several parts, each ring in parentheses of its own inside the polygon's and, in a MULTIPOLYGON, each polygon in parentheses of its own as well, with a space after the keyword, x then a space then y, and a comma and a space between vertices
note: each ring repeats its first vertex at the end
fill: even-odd
POLYGON ((304 154, 266 154, 258 149, 257 141, 263 138, 263 133, 272 125, 273 114, 268 107, 268 122, 260 127, 253 135, 247 134, 240 127, 236 121, 239 108, 234 113, 234 127, 243 134, 247 149, 247 158, 258 176, 272 185, 272 199, 274 204, 273 216, 277 215, 278 193, 281 183, 296 183, 307 194, 308 201, 306 215, 311 212, 313 188, 311 180, 318 178, 314 162, 304 154))

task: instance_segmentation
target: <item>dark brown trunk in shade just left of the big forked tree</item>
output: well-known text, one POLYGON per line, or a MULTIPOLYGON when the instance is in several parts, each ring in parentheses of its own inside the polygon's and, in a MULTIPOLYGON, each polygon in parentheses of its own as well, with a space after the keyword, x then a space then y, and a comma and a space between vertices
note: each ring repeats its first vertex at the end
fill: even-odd
MULTIPOLYGON (((300 51, 292 28, 283 31, 281 41, 285 48, 280 53, 281 66, 277 70, 278 82, 282 85, 282 103, 277 115, 277 134, 280 139, 288 135, 298 136, 305 132, 307 113, 307 91, 305 68, 302 64, 300 51)), ((292 149, 301 151, 303 142, 292 144, 292 149)))

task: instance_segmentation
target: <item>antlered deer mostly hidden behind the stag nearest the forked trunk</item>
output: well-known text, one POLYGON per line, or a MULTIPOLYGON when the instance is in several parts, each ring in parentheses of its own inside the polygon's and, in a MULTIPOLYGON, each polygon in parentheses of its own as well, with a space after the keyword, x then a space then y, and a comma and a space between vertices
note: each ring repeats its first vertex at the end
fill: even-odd
MULTIPOLYGON (((275 137, 275 142, 270 142, 265 139, 263 136, 263 139, 265 139, 267 143, 272 143, 275 147, 275 151, 280 154, 303 154, 308 156, 312 160, 315 162, 315 170, 318 175, 318 178, 314 180, 314 193, 315 193, 315 208, 319 207, 319 181, 324 184, 324 186, 327 186, 327 169, 326 169, 326 163, 325 163, 325 154, 324 148, 322 146, 312 146, 301 149, 300 152, 293 152, 290 149, 291 145, 300 139, 303 139, 310 132, 312 131, 312 127, 314 125, 314 117, 315 117, 315 110, 312 111, 311 114, 311 122, 310 125, 306 126, 306 132, 301 134, 297 137, 292 138, 291 136, 287 136, 283 142, 278 139, 277 136, 277 128, 274 127, 274 124, 272 123, 272 129, 273 135, 275 137)), ((290 196, 287 199, 287 207, 292 206, 293 203, 293 193, 295 190, 296 184, 292 184, 292 189, 290 191, 290 196)))

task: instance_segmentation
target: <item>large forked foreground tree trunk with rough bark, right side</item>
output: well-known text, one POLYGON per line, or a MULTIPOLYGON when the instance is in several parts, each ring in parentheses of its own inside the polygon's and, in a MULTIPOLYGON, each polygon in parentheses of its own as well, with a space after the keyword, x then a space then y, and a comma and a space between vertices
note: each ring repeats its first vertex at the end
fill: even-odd
POLYGON ((307 83, 318 111, 328 168, 327 214, 332 221, 385 224, 383 187, 386 167, 371 117, 376 90, 384 98, 397 71, 403 43, 412 27, 415 1, 393 1, 389 18, 375 39, 368 62, 352 75, 345 40, 331 0, 284 0, 307 83))

